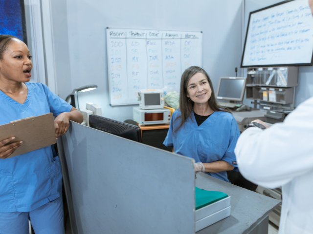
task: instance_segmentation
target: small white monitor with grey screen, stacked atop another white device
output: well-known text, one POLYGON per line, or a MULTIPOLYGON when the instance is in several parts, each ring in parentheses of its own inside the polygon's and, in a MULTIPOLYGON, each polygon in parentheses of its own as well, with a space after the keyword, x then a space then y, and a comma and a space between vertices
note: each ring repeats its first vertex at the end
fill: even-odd
POLYGON ((139 107, 143 110, 162 109, 164 106, 164 94, 161 89, 141 89, 137 99, 139 107))

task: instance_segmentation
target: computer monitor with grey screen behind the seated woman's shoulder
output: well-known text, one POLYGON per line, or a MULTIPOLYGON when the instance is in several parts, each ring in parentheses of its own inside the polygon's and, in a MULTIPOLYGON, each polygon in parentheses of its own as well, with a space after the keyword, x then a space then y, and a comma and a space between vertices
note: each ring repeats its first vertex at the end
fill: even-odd
POLYGON ((216 98, 218 100, 243 101, 245 89, 245 77, 221 77, 216 98))

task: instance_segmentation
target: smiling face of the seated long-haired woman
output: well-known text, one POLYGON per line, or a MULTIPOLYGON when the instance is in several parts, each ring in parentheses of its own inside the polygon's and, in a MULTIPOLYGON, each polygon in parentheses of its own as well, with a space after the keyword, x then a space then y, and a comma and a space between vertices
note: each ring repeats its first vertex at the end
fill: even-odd
POLYGON ((204 104, 211 98, 212 90, 207 78, 202 73, 193 75, 187 85, 187 97, 197 104, 204 104))

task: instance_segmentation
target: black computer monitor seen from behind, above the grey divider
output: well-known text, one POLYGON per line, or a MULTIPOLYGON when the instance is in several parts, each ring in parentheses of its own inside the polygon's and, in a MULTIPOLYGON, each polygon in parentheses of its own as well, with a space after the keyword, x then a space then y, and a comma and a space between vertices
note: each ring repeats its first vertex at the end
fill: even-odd
POLYGON ((140 128, 133 124, 123 123, 102 116, 90 115, 89 126, 90 128, 95 128, 119 137, 141 142, 140 128))

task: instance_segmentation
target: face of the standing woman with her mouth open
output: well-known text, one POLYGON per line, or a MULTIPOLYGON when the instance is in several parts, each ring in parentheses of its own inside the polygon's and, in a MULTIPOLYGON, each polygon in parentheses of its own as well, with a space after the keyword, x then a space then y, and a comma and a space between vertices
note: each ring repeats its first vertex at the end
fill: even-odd
POLYGON ((19 39, 12 39, 0 59, 0 79, 28 82, 33 67, 27 45, 19 39))

